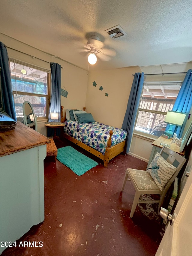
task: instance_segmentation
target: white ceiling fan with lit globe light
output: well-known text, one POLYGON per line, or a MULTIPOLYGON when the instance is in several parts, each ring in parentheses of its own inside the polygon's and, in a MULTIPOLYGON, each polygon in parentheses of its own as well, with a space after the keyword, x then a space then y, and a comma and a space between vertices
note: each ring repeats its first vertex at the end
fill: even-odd
POLYGON ((97 62, 97 57, 103 61, 108 61, 111 57, 116 56, 116 52, 112 49, 103 48, 104 43, 99 40, 98 36, 91 36, 88 39, 87 45, 84 45, 83 51, 90 52, 88 56, 89 64, 93 65, 97 62))

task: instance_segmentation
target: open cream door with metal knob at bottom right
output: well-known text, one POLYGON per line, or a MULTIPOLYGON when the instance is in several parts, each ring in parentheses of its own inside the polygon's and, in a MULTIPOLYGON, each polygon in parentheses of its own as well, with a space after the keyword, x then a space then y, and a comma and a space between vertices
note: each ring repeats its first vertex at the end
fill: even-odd
POLYGON ((192 255, 192 173, 187 178, 174 212, 176 218, 173 225, 168 224, 155 256, 192 255))

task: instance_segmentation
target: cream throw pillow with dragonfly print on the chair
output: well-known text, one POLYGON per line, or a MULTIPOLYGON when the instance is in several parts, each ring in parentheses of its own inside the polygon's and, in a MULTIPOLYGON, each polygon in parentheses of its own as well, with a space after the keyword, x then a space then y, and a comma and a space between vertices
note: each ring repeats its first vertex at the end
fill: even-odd
POLYGON ((168 163, 159 153, 155 155, 147 172, 152 176, 159 189, 162 191, 168 180, 176 172, 176 167, 168 163))

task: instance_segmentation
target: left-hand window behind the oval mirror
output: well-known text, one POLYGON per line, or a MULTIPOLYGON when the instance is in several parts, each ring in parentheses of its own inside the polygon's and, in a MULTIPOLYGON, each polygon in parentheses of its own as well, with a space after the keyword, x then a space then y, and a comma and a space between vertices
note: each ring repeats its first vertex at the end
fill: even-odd
POLYGON ((50 73, 10 62, 16 117, 23 117, 22 104, 29 101, 37 117, 48 117, 50 73))

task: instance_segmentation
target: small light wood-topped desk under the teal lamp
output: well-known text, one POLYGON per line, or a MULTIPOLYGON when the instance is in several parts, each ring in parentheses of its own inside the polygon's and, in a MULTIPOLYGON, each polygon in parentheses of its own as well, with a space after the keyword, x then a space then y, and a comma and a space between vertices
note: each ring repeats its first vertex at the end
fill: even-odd
MULTIPOLYGON (((179 152, 180 146, 178 146, 176 143, 171 143, 171 142, 172 142, 172 138, 171 139, 166 139, 166 138, 164 138, 162 136, 159 137, 157 140, 155 140, 152 143, 153 148, 152 148, 152 152, 151 152, 151 155, 150 155, 150 158, 149 158, 148 165, 151 163, 151 161, 154 158, 155 154, 157 152, 159 153, 161 151, 163 145, 160 145, 160 143, 164 143, 164 144, 170 145, 170 147, 168 147, 169 149, 173 150, 174 152, 176 152, 179 155, 182 155, 184 157, 185 156, 185 151, 179 152)), ((148 168, 148 165, 147 165, 147 168, 148 168)))

